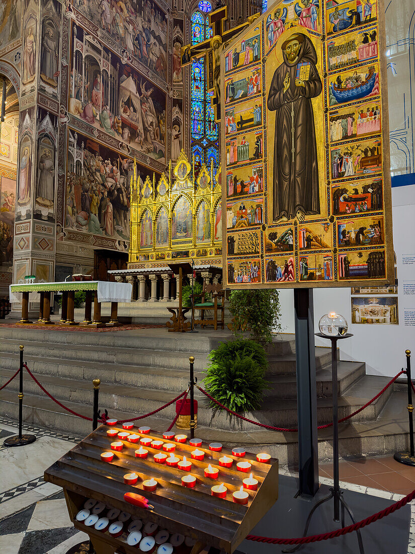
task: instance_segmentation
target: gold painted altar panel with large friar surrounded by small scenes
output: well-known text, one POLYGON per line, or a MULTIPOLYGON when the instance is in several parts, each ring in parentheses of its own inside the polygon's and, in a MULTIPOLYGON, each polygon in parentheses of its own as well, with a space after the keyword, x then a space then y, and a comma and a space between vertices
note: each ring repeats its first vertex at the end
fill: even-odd
POLYGON ((379 14, 375 0, 284 1, 222 52, 230 288, 393 281, 379 14))

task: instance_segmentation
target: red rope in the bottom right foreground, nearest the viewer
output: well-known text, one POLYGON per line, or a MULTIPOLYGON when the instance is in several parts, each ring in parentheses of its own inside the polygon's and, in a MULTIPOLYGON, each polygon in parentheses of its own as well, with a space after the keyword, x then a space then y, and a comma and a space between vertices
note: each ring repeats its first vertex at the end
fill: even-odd
POLYGON ((270 545, 305 545, 309 542, 325 541, 328 538, 336 538, 340 537, 341 535, 346 535, 347 533, 352 533, 353 531, 361 529, 361 527, 366 527, 366 525, 370 525, 374 521, 382 519, 382 517, 393 514, 393 512, 399 510, 400 508, 402 508, 402 506, 408 504, 408 502, 411 502, 411 500, 413 500, 414 498, 415 490, 413 490, 412 493, 409 493, 398 502, 395 502, 395 504, 391 504, 391 506, 388 506, 387 508, 385 508, 385 510, 377 512, 377 514, 366 517, 366 519, 358 521, 353 525, 342 527, 341 529, 330 531, 328 533, 322 533, 320 535, 310 535, 308 537, 299 538, 272 538, 261 537, 258 535, 248 535, 246 538, 248 541, 266 542, 270 545))

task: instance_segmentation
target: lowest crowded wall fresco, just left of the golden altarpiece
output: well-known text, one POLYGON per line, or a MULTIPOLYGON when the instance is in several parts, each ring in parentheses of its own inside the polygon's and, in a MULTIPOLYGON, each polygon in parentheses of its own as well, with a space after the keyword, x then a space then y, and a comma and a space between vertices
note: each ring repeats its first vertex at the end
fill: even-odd
POLYGON ((131 158, 69 131, 67 168, 65 227, 128 240, 131 158))

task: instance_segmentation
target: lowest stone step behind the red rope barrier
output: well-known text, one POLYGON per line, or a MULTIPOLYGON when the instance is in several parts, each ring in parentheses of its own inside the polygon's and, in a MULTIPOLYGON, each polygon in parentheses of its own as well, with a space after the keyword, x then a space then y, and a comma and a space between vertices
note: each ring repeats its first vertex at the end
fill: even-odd
MULTIPOLYGON (((393 392, 377 422, 362 422, 341 424, 339 436, 340 456, 350 455, 386 455, 401 450, 408 450, 408 413, 406 410, 406 393, 393 392)), ((66 406, 82 415, 91 417, 91 409, 82 404, 67 402, 66 406)), ((3 416, 17 420, 18 404, 15 393, 0 391, 0 413, 3 416)), ((131 414, 114 411, 112 415, 118 419, 127 419, 131 414)), ((85 437, 92 430, 92 423, 72 416, 57 406, 49 398, 34 394, 25 394, 23 399, 23 420, 48 429, 61 430, 65 433, 85 437)), ((149 417, 136 424, 146 424, 152 429, 163 432, 169 427, 171 420, 165 417, 149 417)), ((175 428, 173 428, 175 430, 175 428)), ((328 461, 333 458, 331 428, 319 431, 318 458, 328 461)), ((189 434, 189 433, 188 433, 189 434)), ((198 423, 196 436, 207 442, 220 441, 226 447, 245 444, 250 452, 268 452, 278 458, 279 463, 295 464, 298 462, 297 433, 279 433, 266 429, 245 429, 241 422, 237 430, 214 429, 198 423)))

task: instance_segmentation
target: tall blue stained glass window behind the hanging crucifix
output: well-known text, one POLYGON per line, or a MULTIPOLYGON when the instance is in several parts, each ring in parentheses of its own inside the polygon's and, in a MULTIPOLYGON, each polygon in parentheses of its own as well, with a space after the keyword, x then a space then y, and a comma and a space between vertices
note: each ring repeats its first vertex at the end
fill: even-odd
MULTIPOLYGON (((192 44, 198 44, 212 36, 209 27, 209 16, 212 6, 210 2, 200 2, 199 11, 191 17, 192 44), (205 12, 205 13, 201 13, 205 12)), ((206 60, 205 57, 191 63, 191 156, 195 161, 195 172, 201 165, 210 168, 211 161, 219 166, 219 146, 217 144, 217 124, 214 110, 210 104, 213 93, 206 90, 206 60)))

